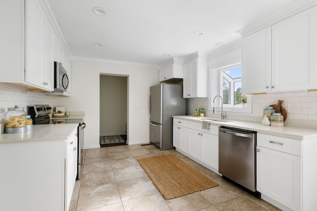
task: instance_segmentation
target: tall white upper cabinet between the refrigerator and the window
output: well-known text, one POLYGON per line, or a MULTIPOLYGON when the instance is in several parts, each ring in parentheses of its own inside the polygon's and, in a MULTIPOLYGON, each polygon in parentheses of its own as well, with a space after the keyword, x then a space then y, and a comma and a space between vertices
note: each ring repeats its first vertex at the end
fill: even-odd
POLYGON ((208 97, 208 59, 199 52, 184 64, 183 97, 208 97))

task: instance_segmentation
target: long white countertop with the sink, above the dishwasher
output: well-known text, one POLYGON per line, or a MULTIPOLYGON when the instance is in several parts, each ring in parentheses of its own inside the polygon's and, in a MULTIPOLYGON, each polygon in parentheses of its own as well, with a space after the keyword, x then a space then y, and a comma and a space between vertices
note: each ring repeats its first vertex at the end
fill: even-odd
MULTIPOLYGON (((192 116, 173 116, 173 118, 183 119, 187 121, 194 121, 199 123, 202 123, 203 120, 207 119, 207 118, 192 117, 192 116)), ((211 119, 214 119, 214 118, 211 118, 211 119)), ((283 126, 283 127, 264 126, 261 123, 236 121, 236 120, 223 120, 223 121, 227 121, 227 122, 210 122, 210 124, 215 126, 226 126, 226 127, 235 127, 240 129, 253 130, 263 134, 275 135, 275 136, 292 138, 297 140, 303 140, 306 138, 317 138, 317 129, 302 128, 302 127, 288 127, 288 126, 283 126)))

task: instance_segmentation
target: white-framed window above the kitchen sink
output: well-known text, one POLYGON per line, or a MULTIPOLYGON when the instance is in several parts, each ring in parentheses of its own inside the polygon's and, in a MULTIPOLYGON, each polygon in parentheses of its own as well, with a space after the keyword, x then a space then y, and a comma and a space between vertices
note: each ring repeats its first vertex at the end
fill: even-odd
MULTIPOLYGON (((223 111, 252 113, 252 95, 245 97, 241 90, 241 62, 212 69, 209 71, 210 95, 209 110, 213 110, 213 99, 220 95, 223 99, 223 111), (242 99, 244 102, 242 102, 242 99)), ((215 107, 221 107, 220 99, 215 99, 215 107)))

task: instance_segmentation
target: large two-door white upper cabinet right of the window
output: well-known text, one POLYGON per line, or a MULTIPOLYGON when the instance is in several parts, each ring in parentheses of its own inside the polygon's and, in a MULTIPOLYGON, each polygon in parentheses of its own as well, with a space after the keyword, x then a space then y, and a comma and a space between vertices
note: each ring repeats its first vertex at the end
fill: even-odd
POLYGON ((317 6, 242 40, 242 91, 317 88, 317 6))

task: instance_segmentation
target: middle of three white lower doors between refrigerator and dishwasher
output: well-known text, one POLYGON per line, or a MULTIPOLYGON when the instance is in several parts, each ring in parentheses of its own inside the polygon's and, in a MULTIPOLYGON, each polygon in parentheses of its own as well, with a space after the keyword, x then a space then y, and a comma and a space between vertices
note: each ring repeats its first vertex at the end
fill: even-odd
POLYGON ((188 154, 201 159, 201 131, 188 128, 188 154))

